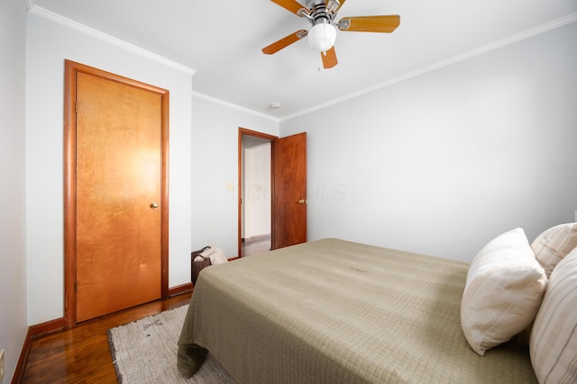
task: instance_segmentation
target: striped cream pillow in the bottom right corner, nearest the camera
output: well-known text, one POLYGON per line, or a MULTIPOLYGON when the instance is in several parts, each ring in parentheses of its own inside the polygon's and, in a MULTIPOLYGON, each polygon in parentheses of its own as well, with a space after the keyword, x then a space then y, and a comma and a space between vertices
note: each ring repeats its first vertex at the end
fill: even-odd
POLYGON ((529 348, 541 384, 577 382, 577 249, 551 273, 529 348))

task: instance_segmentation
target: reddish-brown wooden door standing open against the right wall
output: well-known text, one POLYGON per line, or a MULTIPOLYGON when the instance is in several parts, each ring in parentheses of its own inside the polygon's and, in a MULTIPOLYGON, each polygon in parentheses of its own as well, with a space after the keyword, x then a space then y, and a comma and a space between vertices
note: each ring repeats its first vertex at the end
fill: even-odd
POLYGON ((272 142, 271 248, 307 241, 307 132, 272 142))

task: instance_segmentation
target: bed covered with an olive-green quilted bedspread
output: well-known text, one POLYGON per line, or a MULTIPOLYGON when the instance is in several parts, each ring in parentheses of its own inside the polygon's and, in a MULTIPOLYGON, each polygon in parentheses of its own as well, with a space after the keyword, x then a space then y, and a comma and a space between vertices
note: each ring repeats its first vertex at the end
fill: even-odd
MULTIPOLYGON (((500 260, 493 248, 510 248, 519 235, 525 237, 522 229, 496 238, 471 265, 323 239, 211 266, 190 300, 179 371, 191 376, 210 352, 239 383, 538 382, 528 339, 506 335, 495 344, 495 316, 477 314, 477 303, 467 308, 463 299, 467 290, 487 299, 476 281, 487 269, 481 261, 500 260), (472 335, 463 332, 462 311, 473 318, 472 335), (492 323, 476 324, 486 317, 492 323)), ((536 271, 545 276, 538 263, 536 271)), ((531 318, 514 318, 518 324, 508 332, 533 322, 547 277, 536 281, 529 284, 536 304, 527 305, 524 293, 514 300, 531 318)), ((499 318, 497 326, 507 328, 499 318)))

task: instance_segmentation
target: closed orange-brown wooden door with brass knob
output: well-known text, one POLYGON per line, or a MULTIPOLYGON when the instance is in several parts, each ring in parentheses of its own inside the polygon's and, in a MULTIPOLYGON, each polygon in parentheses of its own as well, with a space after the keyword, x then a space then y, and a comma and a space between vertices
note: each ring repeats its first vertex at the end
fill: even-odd
POLYGON ((76 319, 161 296, 162 95, 78 72, 76 319))

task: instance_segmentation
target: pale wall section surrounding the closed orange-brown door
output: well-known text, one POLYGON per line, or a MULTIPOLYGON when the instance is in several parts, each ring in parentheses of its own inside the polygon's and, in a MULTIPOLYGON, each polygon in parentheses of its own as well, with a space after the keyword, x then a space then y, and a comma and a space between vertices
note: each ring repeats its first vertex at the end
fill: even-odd
POLYGON ((27 50, 28 324, 63 309, 64 59, 169 90, 169 286, 190 281, 191 73, 28 15, 27 50))

